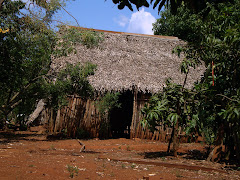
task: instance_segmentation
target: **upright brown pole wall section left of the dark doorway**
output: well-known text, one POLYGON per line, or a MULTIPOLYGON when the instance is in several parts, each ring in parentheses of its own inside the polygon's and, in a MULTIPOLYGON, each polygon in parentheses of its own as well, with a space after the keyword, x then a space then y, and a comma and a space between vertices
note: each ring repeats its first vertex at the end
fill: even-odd
POLYGON ((64 132, 69 137, 77 133, 87 132, 90 137, 99 137, 101 118, 95 101, 78 96, 69 98, 68 106, 58 110, 57 114, 46 109, 49 133, 64 132))

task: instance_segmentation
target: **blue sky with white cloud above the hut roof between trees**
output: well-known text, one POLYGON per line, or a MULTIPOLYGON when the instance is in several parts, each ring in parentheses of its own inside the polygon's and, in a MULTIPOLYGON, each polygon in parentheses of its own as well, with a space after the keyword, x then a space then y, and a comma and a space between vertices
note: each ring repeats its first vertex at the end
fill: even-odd
MULTIPOLYGON (((157 8, 153 10, 152 6, 140 8, 140 11, 134 7, 132 12, 127 7, 119 10, 112 0, 71 0, 65 9, 82 27, 142 34, 152 34, 152 23, 159 17, 157 8)), ((76 25, 64 10, 55 18, 76 25)))

